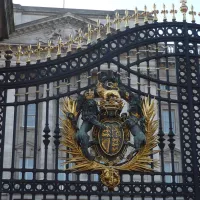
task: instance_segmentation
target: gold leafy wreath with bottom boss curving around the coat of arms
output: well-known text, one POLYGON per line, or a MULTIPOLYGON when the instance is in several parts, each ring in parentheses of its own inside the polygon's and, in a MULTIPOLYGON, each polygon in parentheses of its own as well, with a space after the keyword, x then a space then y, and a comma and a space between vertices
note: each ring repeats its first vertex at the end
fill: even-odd
MULTIPOLYGON (((62 108, 63 113, 73 113, 76 117, 76 101, 70 98, 64 99, 62 108)), ((154 148, 157 146, 158 140, 156 130, 158 128, 158 121, 155 118, 155 105, 154 100, 150 101, 149 98, 145 98, 142 103, 142 112, 145 117, 145 136, 146 145, 144 145, 139 152, 129 161, 120 166, 106 166, 96 161, 88 160, 82 153, 81 148, 75 140, 76 130, 72 122, 66 117, 62 119, 62 141, 61 144, 65 147, 62 149, 70 157, 64 164, 74 163, 75 165, 66 170, 70 171, 102 171, 101 181, 109 189, 113 189, 120 183, 119 170, 121 171, 139 171, 139 172, 151 172, 153 168, 158 167, 158 161, 153 159, 153 154, 158 153, 154 148), (152 165, 154 167, 152 167, 152 165)))

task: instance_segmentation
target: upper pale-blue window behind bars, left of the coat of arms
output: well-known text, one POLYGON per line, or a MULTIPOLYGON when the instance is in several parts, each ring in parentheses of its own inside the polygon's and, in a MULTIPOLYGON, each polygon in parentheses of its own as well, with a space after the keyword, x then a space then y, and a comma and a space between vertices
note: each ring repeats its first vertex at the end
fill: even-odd
MULTIPOLYGON (((35 127, 35 112, 36 106, 35 104, 29 104, 27 107, 27 127, 35 127)), ((24 124, 25 126, 25 112, 24 112, 24 124)))

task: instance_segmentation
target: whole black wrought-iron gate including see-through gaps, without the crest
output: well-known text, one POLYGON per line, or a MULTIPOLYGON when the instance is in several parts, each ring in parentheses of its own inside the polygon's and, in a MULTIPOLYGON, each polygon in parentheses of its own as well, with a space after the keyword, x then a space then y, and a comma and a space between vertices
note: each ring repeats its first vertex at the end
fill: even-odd
POLYGON ((44 63, 11 67, 12 51, 6 51, 0 69, 0 198, 199 200, 199 45, 200 25, 155 21, 44 63), (109 191, 98 172, 59 168, 59 107, 63 97, 92 88, 96 77, 112 71, 133 93, 156 99, 160 168, 121 173, 121 184, 109 191))

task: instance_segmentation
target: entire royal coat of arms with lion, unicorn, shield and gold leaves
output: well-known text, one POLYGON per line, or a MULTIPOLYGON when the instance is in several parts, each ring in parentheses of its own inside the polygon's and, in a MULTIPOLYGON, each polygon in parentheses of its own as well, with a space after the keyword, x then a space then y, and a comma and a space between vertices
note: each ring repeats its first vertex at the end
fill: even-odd
POLYGON ((120 184, 119 171, 151 172, 153 165, 157 167, 151 156, 158 152, 154 150, 158 126, 154 101, 140 100, 117 78, 98 81, 93 90, 76 100, 64 99, 62 112, 62 145, 66 149, 62 151, 70 154, 66 164, 75 164, 67 170, 101 171, 102 183, 113 190, 120 184), (127 113, 122 113, 124 100, 127 113))

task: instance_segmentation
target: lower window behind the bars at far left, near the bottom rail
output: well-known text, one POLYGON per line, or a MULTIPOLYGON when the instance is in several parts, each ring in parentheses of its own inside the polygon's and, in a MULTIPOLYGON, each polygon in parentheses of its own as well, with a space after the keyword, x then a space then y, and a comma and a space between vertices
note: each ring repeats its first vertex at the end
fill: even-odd
MULTIPOLYGON (((23 158, 19 159, 19 168, 22 168, 23 158)), ((33 169, 33 158, 26 158, 25 159, 25 169, 33 169)), ((32 180, 33 173, 32 172, 25 172, 24 175, 25 180, 32 180)), ((19 173, 19 179, 22 179, 22 173, 19 173)))

